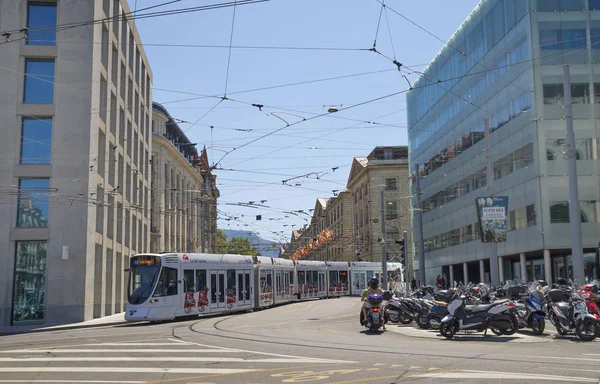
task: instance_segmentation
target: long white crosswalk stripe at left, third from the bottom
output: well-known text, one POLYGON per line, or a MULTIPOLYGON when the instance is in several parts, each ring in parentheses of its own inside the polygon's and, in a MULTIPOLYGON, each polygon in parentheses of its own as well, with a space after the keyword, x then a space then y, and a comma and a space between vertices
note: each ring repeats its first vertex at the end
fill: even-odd
POLYGON ((242 359, 238 357, 3 357, 0 362, 4 363, 25 363, 25 362, 67 362, 67 361, 191 361, 191 362, 226 362, 226 363, 331 363, 339 364, 339 360, 311 359, 311 358, 282 358, 282 359, 242 359))

